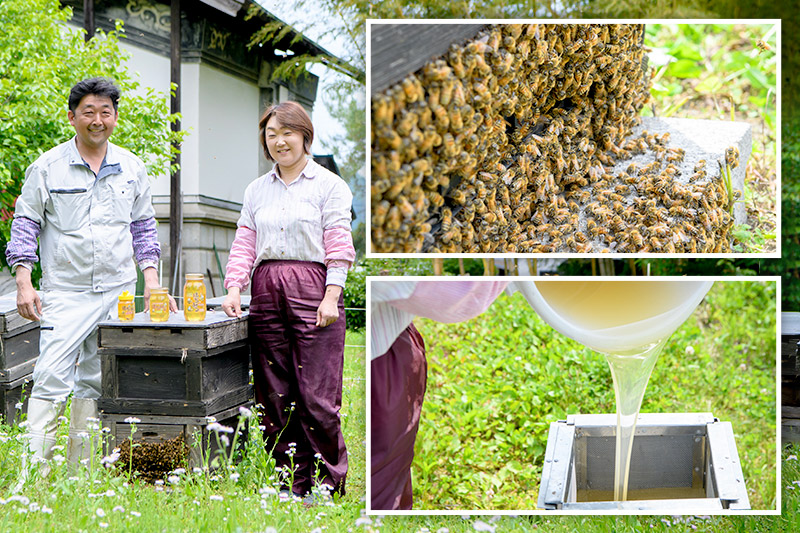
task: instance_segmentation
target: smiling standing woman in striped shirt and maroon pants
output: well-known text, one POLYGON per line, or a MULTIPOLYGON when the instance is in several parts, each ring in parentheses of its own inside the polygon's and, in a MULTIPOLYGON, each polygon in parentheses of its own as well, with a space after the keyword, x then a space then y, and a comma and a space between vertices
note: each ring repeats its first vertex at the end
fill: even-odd
POLYGON ((318 482, 343 495, 342 290, 355 259, 352 194, 339 176, 306 157, 314 127, 299 104, 267 109, 259 135, 264 155, 275 164, 245 190, 222 307, 228 316, 241 315, 240 293, 255 266, 250 328, 256 402, 264 406, 267 447, 289 472, 282 491, 303 496, 318 482))

